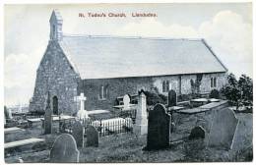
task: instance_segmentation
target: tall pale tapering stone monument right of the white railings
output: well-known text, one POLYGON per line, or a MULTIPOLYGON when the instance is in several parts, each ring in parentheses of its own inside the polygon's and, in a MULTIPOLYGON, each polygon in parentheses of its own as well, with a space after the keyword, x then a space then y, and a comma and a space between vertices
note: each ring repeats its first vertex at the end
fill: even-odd
POLYGON ((134 132, 138 136, 148 134, 147 99, 143 90, 139 91, 134 132))

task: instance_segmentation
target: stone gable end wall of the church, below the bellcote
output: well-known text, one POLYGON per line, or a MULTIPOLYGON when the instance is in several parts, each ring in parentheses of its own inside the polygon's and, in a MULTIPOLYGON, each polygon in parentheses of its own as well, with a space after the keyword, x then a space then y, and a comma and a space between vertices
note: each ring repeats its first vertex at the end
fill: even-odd
POLYGON ((73 70, 57 41, 49 41, 45 54, 36 71, 36 80, 30 111, 44 111, 47 92, 58 98, 58 112, 74 114, 79 76, 73 70))

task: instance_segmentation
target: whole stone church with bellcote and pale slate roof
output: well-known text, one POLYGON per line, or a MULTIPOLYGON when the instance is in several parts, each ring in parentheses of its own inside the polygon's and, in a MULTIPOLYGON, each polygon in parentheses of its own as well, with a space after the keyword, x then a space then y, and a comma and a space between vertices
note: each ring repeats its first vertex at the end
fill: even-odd
POLYGON ((138 90, 187 94, 220 89, 227 69, 204 39, 66 35, 57 10, 36 71, 30 111, 44 111, 50 91, 54 114, 75 114, 74 97, 84 92, 86 110, 107 110, 117 97, 138 90))

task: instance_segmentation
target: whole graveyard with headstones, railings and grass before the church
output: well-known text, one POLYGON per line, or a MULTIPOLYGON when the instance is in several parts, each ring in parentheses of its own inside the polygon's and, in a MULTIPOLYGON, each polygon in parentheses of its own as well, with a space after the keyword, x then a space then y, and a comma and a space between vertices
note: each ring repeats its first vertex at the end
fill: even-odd
POLYGON ((125 95, 115 105, 122 113, 104 115, 111 111, 84 110, 81 94, 78 116, 56 116, 49 94, 43 116, 21 119, 27 125, 6 121, 6 163, 252 160, 252 113, 235 113, 226 100, 196 98, 186 106, 170 90, 165 105, 149 106, 141 90, 138 104, 125 95))

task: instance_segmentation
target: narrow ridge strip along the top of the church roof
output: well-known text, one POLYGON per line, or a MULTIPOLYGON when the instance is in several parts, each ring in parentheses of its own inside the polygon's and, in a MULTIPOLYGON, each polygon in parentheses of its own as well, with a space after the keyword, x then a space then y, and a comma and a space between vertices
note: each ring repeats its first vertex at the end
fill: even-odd
POLYGON ((176 38, 176 37, 160 37, 160 36, 123 36, 123 35, 96 35, 96 34, 63 34, 63 37, 88 37, 88 38, 120 38, 120 39, 154 39, 154 40, 188 40, 188 41, 201 41, 204 38, 176 38))

